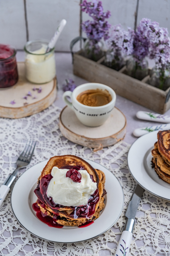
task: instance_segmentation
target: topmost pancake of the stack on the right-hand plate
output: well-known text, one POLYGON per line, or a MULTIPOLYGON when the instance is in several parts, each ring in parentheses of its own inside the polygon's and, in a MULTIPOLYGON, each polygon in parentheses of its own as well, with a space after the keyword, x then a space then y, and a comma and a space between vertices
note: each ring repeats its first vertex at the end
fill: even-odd
POLYGON ((170 165, 170 130, 158 132, 158 150, 163 160, 170 165))

